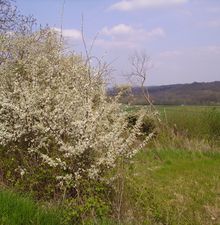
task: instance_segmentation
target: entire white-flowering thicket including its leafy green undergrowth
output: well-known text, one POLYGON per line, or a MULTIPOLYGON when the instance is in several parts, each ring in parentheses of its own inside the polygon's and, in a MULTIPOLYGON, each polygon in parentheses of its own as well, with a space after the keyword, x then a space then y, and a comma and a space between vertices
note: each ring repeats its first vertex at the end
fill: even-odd
POLYGON ((104 64, 67 53, 50 28, 8 31, 0 33, 1 182, 61 202, 66 223, 109 213, 117 180, 110 169, 153 136, 141 132, 148 112, 129 125, 120 93, 106 95, 104 64))

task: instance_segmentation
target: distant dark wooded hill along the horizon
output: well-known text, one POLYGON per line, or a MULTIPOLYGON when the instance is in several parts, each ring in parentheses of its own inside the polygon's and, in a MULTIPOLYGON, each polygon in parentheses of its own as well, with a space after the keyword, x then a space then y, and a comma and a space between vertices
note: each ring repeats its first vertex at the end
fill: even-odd
MULTIPOLYGON (((155 105, 220 105, 220 81, 150 86, 148 91, 155 105)), ((140 87, 132 87, 132 95, 133 104, 146 104, 140 87)), ((129 99, 124 95, 122 102, 129 99)))

